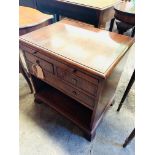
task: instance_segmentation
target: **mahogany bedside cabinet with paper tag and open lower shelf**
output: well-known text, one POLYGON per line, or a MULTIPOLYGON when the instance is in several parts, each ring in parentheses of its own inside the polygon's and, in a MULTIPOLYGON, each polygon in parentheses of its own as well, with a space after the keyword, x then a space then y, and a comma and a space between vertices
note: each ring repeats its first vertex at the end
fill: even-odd
POLYGON ((20 36, 35 101, 72 121, 91 140, 113 103, 133 42, 128 36, 87 30, 69 21, 20 36))

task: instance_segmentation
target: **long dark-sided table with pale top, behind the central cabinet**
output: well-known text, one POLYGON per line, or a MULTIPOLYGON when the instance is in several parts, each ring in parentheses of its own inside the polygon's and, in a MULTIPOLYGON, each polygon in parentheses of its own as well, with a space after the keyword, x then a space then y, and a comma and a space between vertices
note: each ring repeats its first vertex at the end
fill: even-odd
POLYGON ((105 27, 113 16, 111 10, 120 0, 36 0, 37 8, 51 13, 83 21, 95 27, 105 27), (111 15, 111 16, 110 16, 111 15))

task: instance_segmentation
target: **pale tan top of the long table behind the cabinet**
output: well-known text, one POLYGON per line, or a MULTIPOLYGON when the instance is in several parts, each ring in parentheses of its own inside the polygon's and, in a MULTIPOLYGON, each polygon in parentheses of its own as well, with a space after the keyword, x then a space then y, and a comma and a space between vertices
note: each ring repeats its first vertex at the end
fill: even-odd
POLYGON ((120 0, 57 0, 57 1, 98 9, 109 8, 120 2, 120 0))

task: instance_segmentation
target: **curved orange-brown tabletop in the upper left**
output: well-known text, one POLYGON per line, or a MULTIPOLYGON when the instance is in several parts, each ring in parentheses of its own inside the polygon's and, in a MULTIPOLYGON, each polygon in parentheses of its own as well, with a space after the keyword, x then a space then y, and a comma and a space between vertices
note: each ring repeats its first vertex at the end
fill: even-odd
POLYGON ((19 6, 19 28, 38 25, 50 18, 53 18, 53 16, 44 14, 36 9, 19 6))

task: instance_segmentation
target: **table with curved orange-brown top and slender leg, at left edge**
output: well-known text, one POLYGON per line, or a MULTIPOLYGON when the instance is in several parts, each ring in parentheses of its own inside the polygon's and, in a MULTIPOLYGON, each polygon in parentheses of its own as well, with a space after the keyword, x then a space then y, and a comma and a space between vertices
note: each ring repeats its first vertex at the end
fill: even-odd
MULTIPOLYGON (((24 35, 51 23, 53 23, 53 16, 43 14, 40 11, 29 7, 19 7, 19 35, 24 35)), ((23 65, 21 52, 19 55, 19 72, 22 73, 30 87, 31 93, 33 93, 31 81, 29 79, 27 70, 23 65)))

